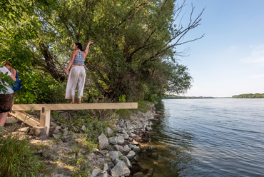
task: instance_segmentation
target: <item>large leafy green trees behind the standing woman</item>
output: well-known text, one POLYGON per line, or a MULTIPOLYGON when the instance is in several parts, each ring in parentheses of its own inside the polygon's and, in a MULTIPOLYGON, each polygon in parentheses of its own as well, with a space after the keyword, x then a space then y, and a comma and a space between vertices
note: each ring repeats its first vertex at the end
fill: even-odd
POLYGON ((24 86, 15 103, 63 103, 63 71, 73 42, 86 47, 90 40, 95 43, 85 65, 91 84, 83 101, 156 101, 166 92, 184 93, 192 79, 186 66, 176 61, 176 47, 190 42, 184 36, 200 24, 203 11, 194 17, 192 9, 192 21, 178 24, 188 6, 177 4, 176 0, 1 1, 0 61, 11 58, 24 86), (126 98, 119 100, 122 95, 126 98))

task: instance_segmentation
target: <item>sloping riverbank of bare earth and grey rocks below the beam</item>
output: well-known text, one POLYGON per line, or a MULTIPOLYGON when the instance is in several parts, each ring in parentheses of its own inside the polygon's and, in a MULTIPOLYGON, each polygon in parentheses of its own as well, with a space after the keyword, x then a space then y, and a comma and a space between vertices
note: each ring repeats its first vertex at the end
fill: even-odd
POLYGON ((91 148, 89 143, 83 145, 85 137, 78 133, 85 131, 85 125, 81 130, 76 129, 75 133, 68 131, 67 126, 55 123, 47 135, 45 128, 40 127, 20 128, 19 131, 21 136, 31 134, 30 142, 42 146, 36 154, 46 162, 49 176, 73 176, 73 173, 83 171, 88 171, 83 176, 93 177, 152 176, 151 170, 144 173, 134 171, 132 164, 137 161, 138 153, 146 151, 141 142, 146 133, 152 130, 155 118, 158 118, 158 114, 152 109, 146 113, 133 113, 129 119, 119 119, 115 126, 107 127, 105 133, 98 136, 98 149, 95 148, 92 153, 87 150, 91 148), (77 148, 76 142, 82 143, 82 146, 77 148), (73 163, 78 163, 78 168, 73 163))

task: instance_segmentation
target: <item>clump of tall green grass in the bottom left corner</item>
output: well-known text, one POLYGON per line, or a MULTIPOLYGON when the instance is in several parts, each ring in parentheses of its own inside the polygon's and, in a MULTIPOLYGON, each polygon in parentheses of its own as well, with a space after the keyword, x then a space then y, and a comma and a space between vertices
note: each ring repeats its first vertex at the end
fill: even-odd
POLYGON ((45 168, 30 149, 29 141, 11 134, 0 137, 0 159, 0 176, 37 176, 45 168))

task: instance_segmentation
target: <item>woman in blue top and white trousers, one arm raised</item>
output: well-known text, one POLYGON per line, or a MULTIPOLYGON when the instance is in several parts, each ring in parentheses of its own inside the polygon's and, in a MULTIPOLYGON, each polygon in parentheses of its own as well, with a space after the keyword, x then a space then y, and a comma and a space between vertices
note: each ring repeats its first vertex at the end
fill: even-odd
POLYGON ((68 82, 66 86, 66 99, 71 99, 71 103, 74 103, 75 89, 78 87, 78 103, 81 103, 81 98, 83 97, 83 87, 86 79, 86 72, 84 69, 84 59, 88 54, 88 49, 92 41, 89 41, 85 51, 82 51, 83 46, 81 43, 74 43, 73 50, 71 51, 71 59, 68 62, 68 66, 65 69, 65 73, 68 76, 68 82), (72 65, 72 66, 71 66, 72 65), (71 68, 70 74, 68 70, 71 68))

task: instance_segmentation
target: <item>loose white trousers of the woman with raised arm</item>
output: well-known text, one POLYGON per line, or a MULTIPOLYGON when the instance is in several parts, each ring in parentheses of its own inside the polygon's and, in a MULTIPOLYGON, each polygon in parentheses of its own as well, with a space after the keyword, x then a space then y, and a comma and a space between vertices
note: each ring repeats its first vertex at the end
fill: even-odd
POLYGON ((78 98, 83 96, 83 88, 85 84, 86 73, 84 66, 71 66, 71 71, 68 76, 68 82, 66 86, 66 99, 75 98, 75 89, 78 87, 78 98))

